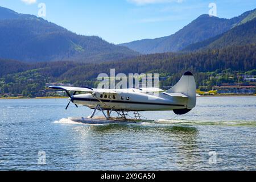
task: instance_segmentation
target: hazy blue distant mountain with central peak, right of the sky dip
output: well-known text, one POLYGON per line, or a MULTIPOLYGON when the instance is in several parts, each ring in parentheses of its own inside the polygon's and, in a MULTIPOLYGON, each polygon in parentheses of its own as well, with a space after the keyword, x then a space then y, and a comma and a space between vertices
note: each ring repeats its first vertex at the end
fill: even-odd
POLYGON ((120 44, 141 53, 181 51, 189 44, 202 42, 220 35, 254 17, 255 10, 247 11, 232 19, 201 15, 175 34, 157 39, 143 39, 120 44))

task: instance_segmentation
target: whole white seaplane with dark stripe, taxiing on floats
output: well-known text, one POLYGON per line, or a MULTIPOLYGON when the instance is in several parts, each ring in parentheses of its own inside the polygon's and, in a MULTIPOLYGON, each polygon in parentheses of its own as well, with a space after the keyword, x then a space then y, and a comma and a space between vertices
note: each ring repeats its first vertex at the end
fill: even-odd
POLYGON ((93 109, 88 118, 69 118, 84 123, 111 123, 127 121, 127 113, 133 112, 135 120, 141 120, 141 111, 174 111, 177 115, 186 114, 196 106, 196 82, 191 72, 185 72, 176 85, 168 90, 159 88, 96 89, 89 87, 49 86, 67 93, 68 109, 72 102, 93 109), (73 94, 71 95, 71 92, 73 94), (76 94, 77 92, 83 94, 76 94), (157 93, 157 94, 156 94, 157 93), (103 114, 94 117, 96 111, 103 114), (112 113, 118 117, 112 117, 112 113), (103 119, 102 119, 103 118, 103 119))

